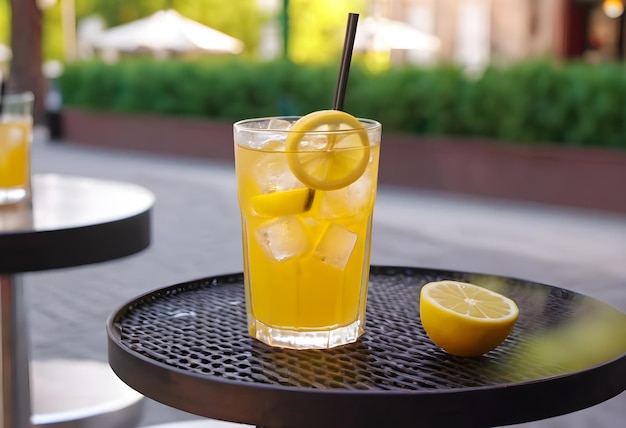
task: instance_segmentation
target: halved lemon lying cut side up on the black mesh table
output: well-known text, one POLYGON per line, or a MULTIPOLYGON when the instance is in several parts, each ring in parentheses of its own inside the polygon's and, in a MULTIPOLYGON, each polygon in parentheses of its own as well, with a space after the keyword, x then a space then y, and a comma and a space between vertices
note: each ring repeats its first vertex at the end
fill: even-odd
POLYGON ((476 357, 500 345, 519 316, 508 297, 474 284, 430 282, 420 293, 422 326, 451 355, 476 357))

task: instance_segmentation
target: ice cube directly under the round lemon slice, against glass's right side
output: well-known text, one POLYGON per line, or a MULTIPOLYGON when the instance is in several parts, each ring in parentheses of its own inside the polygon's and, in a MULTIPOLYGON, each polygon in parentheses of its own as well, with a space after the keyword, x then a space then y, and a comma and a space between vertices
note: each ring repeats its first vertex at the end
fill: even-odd
POLYGON ((326 192, 320 202, 323 218, 351 217, 369 209, 372 202, 372 181, 367 171, 343 189, 326 192))

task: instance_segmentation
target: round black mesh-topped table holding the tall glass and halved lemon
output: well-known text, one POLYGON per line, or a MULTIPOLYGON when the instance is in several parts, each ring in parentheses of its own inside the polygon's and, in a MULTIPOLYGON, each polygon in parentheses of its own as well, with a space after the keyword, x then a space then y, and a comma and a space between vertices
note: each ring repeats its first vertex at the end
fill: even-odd
POLYGON ((171 407, 279 427, 490 427, 598 404, 626 388, 626 314, 572 291, 466 272, 373 266, 364 335, 331 350, 271 348, 247 333, 243 276, 145 294, 107 322, 109 364, 171 407), (498 348, 453 357, 419 318, 429 281, 455 279, 513 298, 498 348))

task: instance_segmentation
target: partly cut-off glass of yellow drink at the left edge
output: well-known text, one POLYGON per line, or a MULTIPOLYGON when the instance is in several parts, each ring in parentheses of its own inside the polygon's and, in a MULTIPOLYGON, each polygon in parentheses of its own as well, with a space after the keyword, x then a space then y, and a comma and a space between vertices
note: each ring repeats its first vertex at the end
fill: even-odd
POLYGON ((31 92, 2 97, 0 112, 0 205, 30 196, 30 145, 33 136, 31 92))

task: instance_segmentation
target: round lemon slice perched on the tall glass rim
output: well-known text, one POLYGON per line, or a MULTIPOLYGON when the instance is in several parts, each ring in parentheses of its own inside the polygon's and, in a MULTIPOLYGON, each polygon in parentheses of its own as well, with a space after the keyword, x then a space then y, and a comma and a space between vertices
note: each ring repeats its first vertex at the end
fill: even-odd
POLYGON ((321 110, 298 119, 287 137, 291 172, 305 186, 337 190, 365 171, 370 148, 363 124, 340 110, 321 110))

